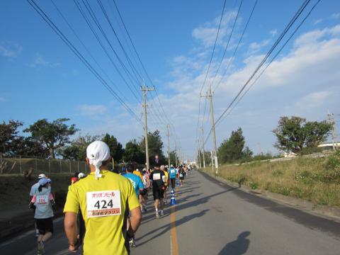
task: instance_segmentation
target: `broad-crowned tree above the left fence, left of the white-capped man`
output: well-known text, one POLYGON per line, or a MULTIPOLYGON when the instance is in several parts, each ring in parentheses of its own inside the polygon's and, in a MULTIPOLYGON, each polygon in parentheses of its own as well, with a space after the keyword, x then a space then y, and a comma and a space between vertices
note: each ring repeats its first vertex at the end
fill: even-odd
POLYGON ((38 120, 23 132, 30 132, 33 139, 43 143, 49 150, 50 157, 55 159, 56 149, 69 144, 69 136, 78 131, 74 124, 68 126, 64 123, 68 120, 68 118, 60 118, 51 123, 46 119, 38 120))

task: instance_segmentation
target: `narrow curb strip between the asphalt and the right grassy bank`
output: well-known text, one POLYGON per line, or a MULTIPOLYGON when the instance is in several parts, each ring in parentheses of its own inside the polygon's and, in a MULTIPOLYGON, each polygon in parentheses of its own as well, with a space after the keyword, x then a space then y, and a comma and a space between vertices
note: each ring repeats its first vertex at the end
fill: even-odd
POLYGON ((246 193, 251 193, 254 196, 260 196, 261 198, 266 198, 268 200, 273 200, 276 203, 280 203, 291 208, 295 208, 298 210, 302 210, 304 212, 310 213, 311 215, 316 215, 319 217, 324 217, 328 220, 334 220, 336 222, 340 222, 340 208, 334 206, 327 206, 327 205, 316 205, 310 201, 302 200, 300 198, 293 198, 290 196, 284 196, 282 194, 273 193, 266 190, 259 190, 259 189, 251 189, 248 186, 241 185, 239 186, 238 183, 234 183, 231 181, 227 181, 220 176, 215 176, 215 174, 210 174, 201 169, 198 169, 200 173, 206 174, 213 179, 225 183, 232 188, 239 188, 239 190, 244 191, 246 193))

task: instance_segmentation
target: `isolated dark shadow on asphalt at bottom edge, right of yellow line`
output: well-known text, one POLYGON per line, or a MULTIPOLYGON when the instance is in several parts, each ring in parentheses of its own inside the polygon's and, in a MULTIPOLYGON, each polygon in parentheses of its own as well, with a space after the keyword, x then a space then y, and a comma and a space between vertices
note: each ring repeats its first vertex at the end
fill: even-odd
POLYGON ((218 253, 218 255, 241 255, 245 254, 249 248, 250 241, 246 237, 249 237, 250 232, 244 231, 233 242, 229 242, 218 253))

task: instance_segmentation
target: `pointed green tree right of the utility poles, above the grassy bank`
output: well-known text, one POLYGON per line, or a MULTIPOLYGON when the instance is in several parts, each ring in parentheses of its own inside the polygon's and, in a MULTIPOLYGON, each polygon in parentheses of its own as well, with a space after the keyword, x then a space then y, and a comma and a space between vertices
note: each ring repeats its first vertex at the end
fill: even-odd
POLYGON ((232 131, 229 139, 224 140, 218 148, 217 154, 220 162, 223 164, 251 157, 252 152, 249 147, 244 147, 245 143, 242 128, 232 131))

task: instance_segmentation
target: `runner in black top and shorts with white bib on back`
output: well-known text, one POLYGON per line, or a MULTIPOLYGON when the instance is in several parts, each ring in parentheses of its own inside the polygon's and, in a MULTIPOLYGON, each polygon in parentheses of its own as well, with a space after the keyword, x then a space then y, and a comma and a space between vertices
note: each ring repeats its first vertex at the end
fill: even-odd
POLYGON ((150 180, 152 181, 152 194, 154 196, 154 209, 156 211, 156 218, 159 219, 159 216, 164 215, 164 181, 165 174, 163 171, 159 169, 159 166, 154 166, 154 171, 152 171, 150 175, 150 180), (158 212, 158 207, 161 207, 160 214, 158 212))

